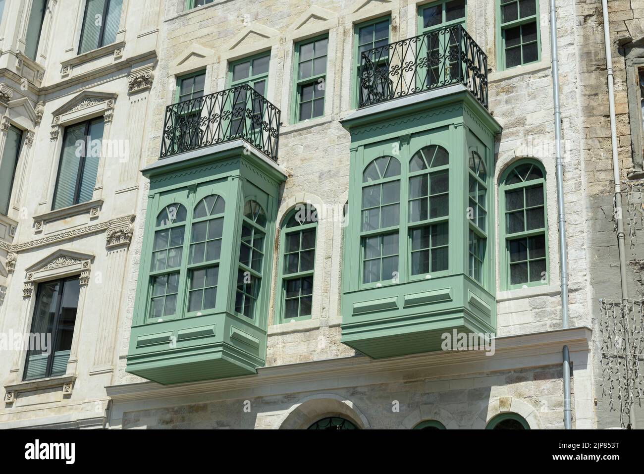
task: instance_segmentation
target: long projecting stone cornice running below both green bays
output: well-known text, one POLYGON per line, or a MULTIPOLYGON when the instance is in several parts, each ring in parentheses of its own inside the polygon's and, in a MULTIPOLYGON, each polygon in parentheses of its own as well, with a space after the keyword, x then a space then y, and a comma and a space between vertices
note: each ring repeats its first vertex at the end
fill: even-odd
MULTIPOLYGON (((338 386, 339 380, 347 386, 356 379, 374 377, 386 372, 401 374, 409 382, 417 379, 440 378, 453 374, 472 374, 542 366, 560 363, 563 345, 568 345, 571 354, 587 352, 592 330, 589 327, 557 329, 516 336, 497 337, 495 355, 483 351, 430 352, 426 354, 370 359, 366 356, 337 357, 288 365, 258 368, 257 375, 231 379, 164 386, 155 382, 107 386, 108 396, 114 401, 126 402, 142 399, 166 399, 185 395, 199 395, 233 390, 254 390, 255 393, 270 392, 278 395, 283 388, 287 393, 293 384, 323 383, 330 380, 338 386), (539 357, 540 361, 536 358, 539 357), (426 374, 422 374, 422 372, 426 374), (282 385, 280 387, 279 385, 282 385)), ((374 381, 374 383, 379 383, 374 381)))

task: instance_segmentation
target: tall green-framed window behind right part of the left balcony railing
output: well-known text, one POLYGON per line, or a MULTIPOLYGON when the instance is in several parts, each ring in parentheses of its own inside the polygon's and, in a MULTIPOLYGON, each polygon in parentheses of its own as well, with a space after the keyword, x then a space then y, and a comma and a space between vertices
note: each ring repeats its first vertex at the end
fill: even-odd
MULTIPOLYGON (((231 63, 229 72, 229 87, 247 84, 265 97, 269 82, 270 53, 262 53, 256 57, 241 59, 231 63)), ((244 129, 254 130, 251 118, 247 117, 246 109, 252 109, 252 122, 258 124, 263 119, 263 101, 249 90, 236 90, 232 95, 231 134, 237 135, 244 129)))

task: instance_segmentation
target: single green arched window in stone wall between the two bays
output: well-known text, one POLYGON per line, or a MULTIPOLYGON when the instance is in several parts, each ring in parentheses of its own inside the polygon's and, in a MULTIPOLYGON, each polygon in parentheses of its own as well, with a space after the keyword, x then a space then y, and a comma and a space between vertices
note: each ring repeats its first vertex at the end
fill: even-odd
POLYGON ((281 238, 283 321, 311 315, 316 233, 317 211, 312 205, 298 204, 287 214, 281 238))

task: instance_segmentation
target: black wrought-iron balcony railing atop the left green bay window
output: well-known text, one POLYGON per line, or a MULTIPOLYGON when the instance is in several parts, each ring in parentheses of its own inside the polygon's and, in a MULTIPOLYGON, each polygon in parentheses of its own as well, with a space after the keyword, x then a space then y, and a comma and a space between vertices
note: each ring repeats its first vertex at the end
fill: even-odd
POLYGON ((279 109, 243 84, 166 108, 161 158, 242 138, 278 158, 279 109))

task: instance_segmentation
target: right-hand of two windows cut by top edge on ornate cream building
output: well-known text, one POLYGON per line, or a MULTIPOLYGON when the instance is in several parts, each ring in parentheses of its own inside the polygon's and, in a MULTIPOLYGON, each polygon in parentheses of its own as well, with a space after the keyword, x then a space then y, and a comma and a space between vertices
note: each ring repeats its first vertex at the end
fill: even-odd
POLYGON ((87 0, 79 54, 117 41, 123 0, 87 0))

